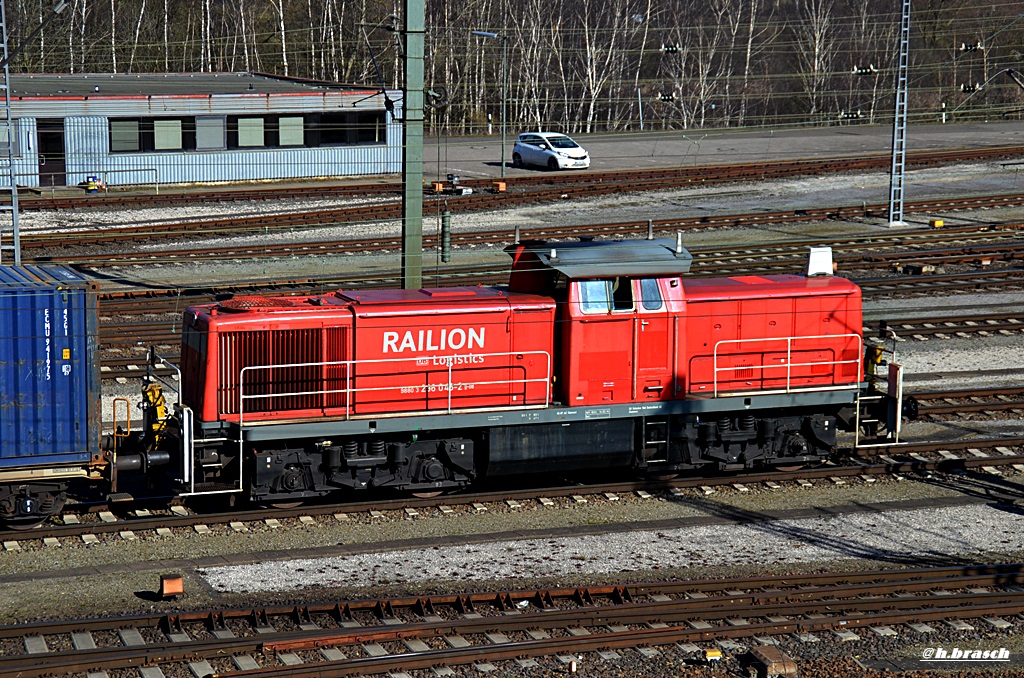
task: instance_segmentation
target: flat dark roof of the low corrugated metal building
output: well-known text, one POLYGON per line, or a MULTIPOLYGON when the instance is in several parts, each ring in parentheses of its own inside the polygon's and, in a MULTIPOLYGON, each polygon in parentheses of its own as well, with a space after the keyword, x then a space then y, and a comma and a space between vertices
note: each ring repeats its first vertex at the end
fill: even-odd
POLYGON ((261 73, 11 74, 11 98, 96 98, 267 94, 353 94, 376 87, 261 73))

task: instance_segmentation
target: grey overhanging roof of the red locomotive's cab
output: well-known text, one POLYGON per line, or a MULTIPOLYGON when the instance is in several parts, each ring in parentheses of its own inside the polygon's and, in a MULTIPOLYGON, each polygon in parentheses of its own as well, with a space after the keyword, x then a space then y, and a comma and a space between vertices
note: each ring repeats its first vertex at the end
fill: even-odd
MULTIPOLYGON (((519 246, 507 252, 515 256, 519 246)), ((566 278, 649 278, 678 276, 690 269, 692 255, 671 239, 602 240, 578 243, 528 242, 522 251, 532 253, 543 266, 566 278)))

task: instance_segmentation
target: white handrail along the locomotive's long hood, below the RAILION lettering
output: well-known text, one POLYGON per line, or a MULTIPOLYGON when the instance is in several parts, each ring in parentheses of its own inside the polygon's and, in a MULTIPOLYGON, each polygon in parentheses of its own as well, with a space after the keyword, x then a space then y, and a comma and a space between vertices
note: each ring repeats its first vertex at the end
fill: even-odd
MULTIPOLYGON (((245 428, 245 414, 246 414, 246 412, 245 412, 245 402, 247 400, 258 400, 258 399, 263 399, 263 398, 279 398, 279 397, 280 398, 295 397, 295 396, 302 396, 302 395, 321 395, 321 396, 325 396, 325 395, 331 395, 331 394, 344 393, 345 394, 345 404, 346 404, 345 405, 345 414, 344 414, 344 417, 345 417, 345 420, 347 421, 347 420, 350 420, 352 418, 352 410, 353 410, 353 407, 352 407, 352 401, 353 401, 352 400, 352 396, 353 395, 358 394, 358 393, 372 393, 372 392, 379 392, 379 391, 398 391, 398 393, 400 394, 401 393, 401 389, 406 389, 406 388, 409 388, 409 389, 422 388, 422 389, 424 389, 424 390, 418 391, 418 392, 412 392, 411 391, 410 393, 412 393, 412 394, 419 394, 419 393, 430 394, 430 393, 438 393, 438 392, 441 392, 441 391, 446 391, 447 392, 447 405, 446 405, 446 407, 444 409, 422 410, 422 411, 419 411, 419 413, 420 414, 437 414, 438 412, 443 412, 445 414, 452 414, 452 412, 454 411, 453 401, 452 401, 454 393, 461 392, 463 390, 467 390, 467 391, 468 390, 473 390, 477 386, 502 386, 502 385, 520 384, 520 385, 523 386, 523 394, 524 394, 524 397, 525 397, 525 387, 528 384, 542 383, 543 382, 544 385, 545 385, 545 387, 544 387, 544 390, 545 390, 545 392, 544 392, 544 402, 543 404, 534 405, 534 406, 519 405, 517 407, 519 407, 519 408, 525 408, 525 409, 545 408, 551 401, 551 371, 552 371, 552 367, 553 367, 553 365, 552 365, 551 353, 549 353, 548 351, 505 351, 505 352, 498 352, 498 353, 472 353, 471 355, 467 355, 467 354, 431 355, 431 356, 422 356, 422 355, 420 355, 420 356, 411 356, 411 357, 375 358, 375 359, 366 359, 366 361, 330 361, 330 362, 315 362, 315 363, 287 363, 287 364, 281 364, 281 365, 252 365, 252 366, 247 366, 247 367, 243 368, 240 371, 240 373, 239 373, 239 427, 240 428, 245 428), (536 377, 536 378, 523 378, 523 379, 501 379, 501 380, 497 380, 497 381, 474 381, 474 382, 466 382, 466 383, 461 383, 461 382, 460 383, 455 383, 455 381, 453 379, 453 372, 457 368, 461 368, 461 369, 487 369, 487 370, 501 369, 500 367, 495 367, 495 366, 490 366, 490 367, 480 366, 479 368, 473 368, 471 366, 467 366, 467 365, 465 365, 463 363, 463 361, 465 361, 466 358, 469 358, 469 357, 486 358, 486 357, 509 357, 509 356, 516 356, 517 358, 521 359, 522 357, 525 357, 527 355, 539 355, 539 356, 543 356, 544 357, 546 365, 545 365, 545 370, 544 370, 545 376, 543 378, 536 377), (396 363, 407 363, 407 364, 408 363, 412 363, 414 367, 431 367, 431 366, 433 366, 433 367, 445 367, 447 369, 447 383, 446 384, 434 384, 434 385, 431 385, 429 382, 424 382, 423 384, 399 384, 399 385, 373 386, 373 387, 364 387, 364 388, 353 388, 352 387, 352 380, 353 380, 353 374, 352 374, 352 372, 354 371, 354 368, 356 368, 357 366, 366 366, 366 365, 374 365, 374 364, 391 364, 391 365, 393 365, 393 364, 396 364, 396 363), (327 367, 342 367, 342 366, 350 369, 349 371, 346 371, 345 388, 318 389, 318 390, 307 390, 307 391, 286 391, 286 392, 256 393, 256 394, 247 394, 245 392, 245 388, 246 388, 246 375, 250 374, 250 373, 257 372, 257 371, 280 370, 280 369, 288 369, 288 368, 309 368, 309 367, 313 367, 313 368, 327 368, 327 367), (469 388, 464 388, 464 387, 467 387, 467 386, 469 388)), ((484 410, 497 410, 497 409, 500 409, 500 407, 496 407, 496 406, 479 406, 479 407, 472 407, 470 409, 484 411, 484 410)), ((402 414, 406 414, 406 415, 417 414, 417 412, 403 412, 402 414)))

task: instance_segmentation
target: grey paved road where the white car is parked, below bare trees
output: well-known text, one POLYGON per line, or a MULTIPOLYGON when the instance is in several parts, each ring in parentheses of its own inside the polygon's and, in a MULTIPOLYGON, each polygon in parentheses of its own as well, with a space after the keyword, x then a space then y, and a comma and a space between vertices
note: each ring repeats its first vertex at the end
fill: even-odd
MULTIPOLYGON (((512 167, 512 144, 521 130, 509 131, 506 174, 522 176, 545 170, 512 167)), ((673 131, 573 135, 590 151, 596 171, 680 167, 720 163, 771 162, 859 154, 889 154, 892 127, 853 126, 772 131, 673 131)), ((1024 145, 1024 122, 963 125, 913 125, 907 129, 907 150, 1024 145)), ((428 138, 423 150, 424 176, 466 178, 499 176, 501 135, 428 138)), ((1024 159, 1022 159, 1024 161, 1024 159)))

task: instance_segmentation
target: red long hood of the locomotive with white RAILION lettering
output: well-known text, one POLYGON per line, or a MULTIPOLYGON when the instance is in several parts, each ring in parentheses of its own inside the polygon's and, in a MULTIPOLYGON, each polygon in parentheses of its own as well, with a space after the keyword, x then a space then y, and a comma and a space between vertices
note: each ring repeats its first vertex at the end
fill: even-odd
POLYGON ((249 297, 185 319, 207 422, 400 416, 550 400, 555 305, 483 287, 249 297))

